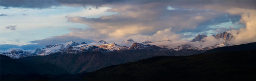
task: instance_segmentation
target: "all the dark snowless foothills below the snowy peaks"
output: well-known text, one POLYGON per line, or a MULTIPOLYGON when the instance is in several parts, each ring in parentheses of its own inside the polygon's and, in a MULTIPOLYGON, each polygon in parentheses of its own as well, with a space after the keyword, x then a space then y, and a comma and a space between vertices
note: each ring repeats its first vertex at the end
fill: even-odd
POLYGON ((20 59, 0 55, 1 80, 255 80, 255 44, 219 47, 203 53, 193 49, 131 49, 57 52, 20 59), (191 55, 175 56, 178 53, 191 55))

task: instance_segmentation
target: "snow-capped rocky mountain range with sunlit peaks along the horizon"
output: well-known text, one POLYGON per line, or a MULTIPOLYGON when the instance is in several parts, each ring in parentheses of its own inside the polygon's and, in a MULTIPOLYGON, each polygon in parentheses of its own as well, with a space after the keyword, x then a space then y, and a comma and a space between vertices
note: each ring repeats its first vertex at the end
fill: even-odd
MULTIPOLYGON (((238 34, 237 31, 227 31, 221 34, 212 35, 216 39, 224 39, 225 41, 230 41, 233 39, 233 36, 238 34)), ((195 37, 191 42, 204 42, 203 39, 206 38, 205 35, 198 35, 195 37)), ((98 42, 92 43, 76 43, 76 42, 67 42, 67 43, 60 43, 55 45, 47 45, 45 48, 36 48, 35 50, 24 50, 20 48, 10 48, 6 51, 0 52, 1 55, 8 56, 12 59, 18 59, 28 56, 46 56, 52 53, 61 52, 61 53, 82 53, 82 52, 92 52, 92 51, 99 51, 102 53, 108 53, 118 50, 137 50, 137 49, 146 49, 146 50, 181 50, 181 49, 195 49, 195 50, 207 50, 216 47, 228 46, 225 41, 222 43, 224 45, 212 45, 206 47, 195 47, 191 45, 180 45, 180 46, 156 46, 151 45, 151 41, 145 41, 142 43, 137 43, 133 41, 133 39, 127 39, 123 41, 123 44, 129 44, 130 46, 121 46, 116 43, 107 43, 104 40, 100 40, 98 42)))

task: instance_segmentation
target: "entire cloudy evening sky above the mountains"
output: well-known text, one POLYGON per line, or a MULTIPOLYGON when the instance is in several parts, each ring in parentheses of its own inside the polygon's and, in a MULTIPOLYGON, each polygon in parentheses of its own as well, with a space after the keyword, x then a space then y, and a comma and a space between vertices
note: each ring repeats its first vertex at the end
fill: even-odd
POLYGON ((246 0, 1 0, 0 50, 127 39, 186 44, 198 34, 231 30, 239 34, 230 45, 256 42, 254 4, 246 0))

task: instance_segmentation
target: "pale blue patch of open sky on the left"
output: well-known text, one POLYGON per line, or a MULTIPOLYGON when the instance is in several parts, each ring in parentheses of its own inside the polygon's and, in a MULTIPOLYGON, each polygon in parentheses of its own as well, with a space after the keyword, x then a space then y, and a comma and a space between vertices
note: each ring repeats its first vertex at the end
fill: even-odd
POLYGON ((95 9, 90 7, 51 7, 47 9, 28 9, 0 6, 1 16, 0 44, 31 44, 29 41, 50 38, 70 33, 70 29, 86 29, 86 24, 68 22, 66 16, 83 16, 97 18, 115 13, 104 12, 107 7, 95 9), (6 26, 15 25, 15 30, 6 26), (15 41, 16 40, 16 41, 15 41))

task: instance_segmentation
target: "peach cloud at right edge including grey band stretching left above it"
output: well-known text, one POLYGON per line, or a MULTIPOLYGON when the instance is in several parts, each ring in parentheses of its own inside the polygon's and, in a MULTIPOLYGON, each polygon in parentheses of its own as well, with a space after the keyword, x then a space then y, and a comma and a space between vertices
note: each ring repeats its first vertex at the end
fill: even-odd
POLYGON ((205 5, 202 8, 241 16, 239 21, 245 25, 245 28, 239 29, 238 35, 232 41, 228 42, 230 45, 238 45, 256 42, 256 6, 252 5, 252 3, 254 4, 256 1, 236 1, 230 3, 226 1, 214 5, 205 5), (224 5, 225 3, 226 5, 224 5))

